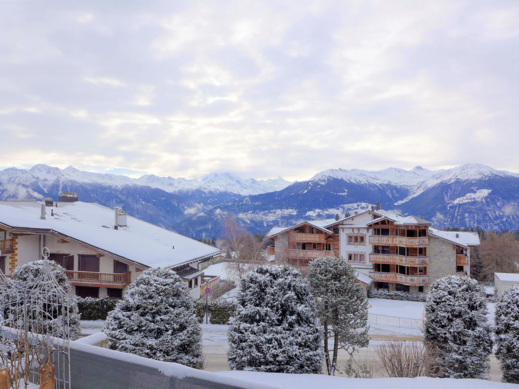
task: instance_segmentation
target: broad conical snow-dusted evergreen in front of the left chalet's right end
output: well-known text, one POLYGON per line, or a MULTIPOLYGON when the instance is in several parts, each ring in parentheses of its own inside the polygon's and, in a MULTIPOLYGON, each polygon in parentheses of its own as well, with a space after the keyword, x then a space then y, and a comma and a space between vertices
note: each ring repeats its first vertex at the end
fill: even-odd
POLYGON ((172 270, 148 269, 137 277, 108 314, 104 332, 111 349, 203 367, 202 330, 193 299, 172 270))

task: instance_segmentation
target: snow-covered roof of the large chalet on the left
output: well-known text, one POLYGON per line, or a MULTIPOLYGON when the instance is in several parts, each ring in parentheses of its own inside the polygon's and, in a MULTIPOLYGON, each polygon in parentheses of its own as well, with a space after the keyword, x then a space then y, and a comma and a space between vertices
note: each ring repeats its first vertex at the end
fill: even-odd
POLYGON ((128 227, 113 228, 115 211, 95 203, 0 202, 0 224, 14 229, 57 232, 145 267, 174 267, 220 253, 216 247, 128 216, 128 227), (51 216, 51 213, 54 216, 51 216))

